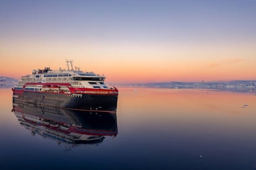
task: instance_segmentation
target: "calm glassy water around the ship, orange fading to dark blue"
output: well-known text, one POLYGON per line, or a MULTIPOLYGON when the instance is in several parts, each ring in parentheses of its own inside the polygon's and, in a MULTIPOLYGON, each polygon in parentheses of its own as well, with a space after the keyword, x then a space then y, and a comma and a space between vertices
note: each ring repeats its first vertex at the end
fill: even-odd
POLYGON ((109 133, 75 144, 22 124, 12 91, 0 91, 0 169, 256 169, 252 93, 119 88, 116 117, 65 113, 86 130, 109 133))

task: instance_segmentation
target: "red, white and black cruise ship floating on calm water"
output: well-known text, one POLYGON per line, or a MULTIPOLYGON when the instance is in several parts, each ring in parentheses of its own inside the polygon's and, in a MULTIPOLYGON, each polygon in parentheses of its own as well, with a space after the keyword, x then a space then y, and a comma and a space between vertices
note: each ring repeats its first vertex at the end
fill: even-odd
POLYGON ((81 111, 116 112, 118 90, 105 83, 105 75, 83 72, 66 61, 67 69, 32 70, 12 89, 13 101, 81 111))

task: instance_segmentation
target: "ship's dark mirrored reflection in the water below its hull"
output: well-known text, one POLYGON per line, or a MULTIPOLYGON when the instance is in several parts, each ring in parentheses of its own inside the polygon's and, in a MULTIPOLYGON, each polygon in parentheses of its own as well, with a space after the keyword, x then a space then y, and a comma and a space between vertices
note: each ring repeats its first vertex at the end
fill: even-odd
POLYGON ((36 107, 30 103, 13 103, 20 125, 58 143, 100 143, 106 136, 116 137, 116 113, 88 112, 36 107))

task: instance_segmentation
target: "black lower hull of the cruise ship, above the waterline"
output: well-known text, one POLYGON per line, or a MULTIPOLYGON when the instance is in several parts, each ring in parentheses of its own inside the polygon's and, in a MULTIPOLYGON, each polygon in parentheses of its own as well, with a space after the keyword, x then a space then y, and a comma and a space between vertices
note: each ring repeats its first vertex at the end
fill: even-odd
POLYGON ((117 108, 117 95, 64 94, 23 91, 15 93, 13 102, 31 103, 35 106, 56 107, 83 111, 113 111, 117 108))

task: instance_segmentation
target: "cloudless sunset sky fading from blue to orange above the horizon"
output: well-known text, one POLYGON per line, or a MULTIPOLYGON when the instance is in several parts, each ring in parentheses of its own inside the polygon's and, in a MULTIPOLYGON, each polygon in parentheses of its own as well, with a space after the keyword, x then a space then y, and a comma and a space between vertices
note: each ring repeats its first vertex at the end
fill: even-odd
POLYGON ((256 1, 0 1, 0 75, 66 68, 109 83, 256 80, 256 1))

